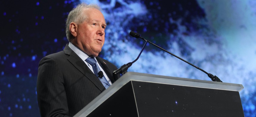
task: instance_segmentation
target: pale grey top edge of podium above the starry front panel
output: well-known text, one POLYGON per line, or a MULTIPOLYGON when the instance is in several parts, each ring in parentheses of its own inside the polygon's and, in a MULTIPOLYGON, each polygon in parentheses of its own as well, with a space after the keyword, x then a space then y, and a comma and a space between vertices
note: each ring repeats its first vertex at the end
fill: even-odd
POLYGON ((163 76, 163 75, 152 75, 152 74, 145 74, 145 73, 138 73, 138 72, 127 72, 118 80, 117 82, 120 82, 121 84, 134 80, 134 81, 143 81, 143 82, 151 82, 151 83, 163 83, 163 84, 171 84, 171 85, 179 85, 179 86, 191 86, 191 87, 211 88, 211 89, 229 90, 229 91, 241 91, 243 89, 243 85, 241 84, 170 77, 170 76, 163 76))

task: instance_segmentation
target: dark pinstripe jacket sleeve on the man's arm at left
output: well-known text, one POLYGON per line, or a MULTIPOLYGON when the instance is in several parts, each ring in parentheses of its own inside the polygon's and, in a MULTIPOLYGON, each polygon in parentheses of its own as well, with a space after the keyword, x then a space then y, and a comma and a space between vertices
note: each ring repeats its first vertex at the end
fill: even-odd
POLYGON ((37 96, 42 117, 67 117, 68 103, 63 72, 60 65, 50 57, 39 62, 37 96))

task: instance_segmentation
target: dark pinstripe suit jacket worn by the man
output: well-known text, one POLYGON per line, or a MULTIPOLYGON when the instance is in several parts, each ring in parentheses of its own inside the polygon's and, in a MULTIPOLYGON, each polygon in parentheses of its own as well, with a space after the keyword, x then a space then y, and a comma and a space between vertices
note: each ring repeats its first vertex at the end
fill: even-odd
MULTIPOLYGON (((111 82, 117 67, 96 57, 111 82)), ((68 45, 44 57, 38 67, 37 95, 41 116, 74 116, 105 88, 68 45)))

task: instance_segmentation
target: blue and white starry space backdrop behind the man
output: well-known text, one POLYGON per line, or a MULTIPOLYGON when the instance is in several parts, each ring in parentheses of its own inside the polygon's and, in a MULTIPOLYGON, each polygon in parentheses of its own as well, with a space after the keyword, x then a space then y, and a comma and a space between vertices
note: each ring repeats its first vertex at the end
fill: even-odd
MULTIPOLYGON (((65 20, 80 2, 99 4, 103 9, 108 25, 99 56, 117 67, 133 61, 144 41, 129 32, 138 32, 223 82, 242 84, 244 114, 256 116, 255 0, 0 1, 1 116, 40 116, 38 63, 68 43, 65 20)), ((129 71, 210 80, 150 44, 129 71)))

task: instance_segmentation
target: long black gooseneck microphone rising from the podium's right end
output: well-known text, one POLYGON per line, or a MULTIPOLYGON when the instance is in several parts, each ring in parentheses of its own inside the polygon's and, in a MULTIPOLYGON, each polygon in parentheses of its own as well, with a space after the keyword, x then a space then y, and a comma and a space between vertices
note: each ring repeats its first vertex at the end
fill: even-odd
POLYGON ((201 70, 202 72, 206 73, 206 74, 208 75, 208 77, 212 79, 212 81, 222 82, 216 75, 213 76, 212 74, 205 72, 205 70, 203 70, 203 69, 201 69, 201 68, 199 68, 199 67, 197 67, 197 66, 191 64, 190 62, 188 62, 188 61, 186 61, 186 60, 180 58, 179 56, 176 56, 175 54, 170 53, 169 51, 167 51, 167 50, 165 50, 165 49, 159 47, 158 45, 155 45, 154 43, 152 43, 152 42, 150 42, 150 41, 144 39, 143 37, 140 36, 140 34, 134 32, 134 31, 130 31, 130 35, 131 35, 132 37, 135 37, 135 38, 141 38, 141 39, 145 40, 146 42, 149 42, 150 44, 156 46, 157 48, 160 48, 161 50, 164 50, 165 52, 171 54, 172 56, 174 56, 174 57, 176 57, 176 58, 178 58, 178 59, 180 59, 180 60, 186 62, 187 64, 189 64, 189 65, 191 65, 191 66, 193 66, 193 67, 195 67, 196 69, 201 70))

